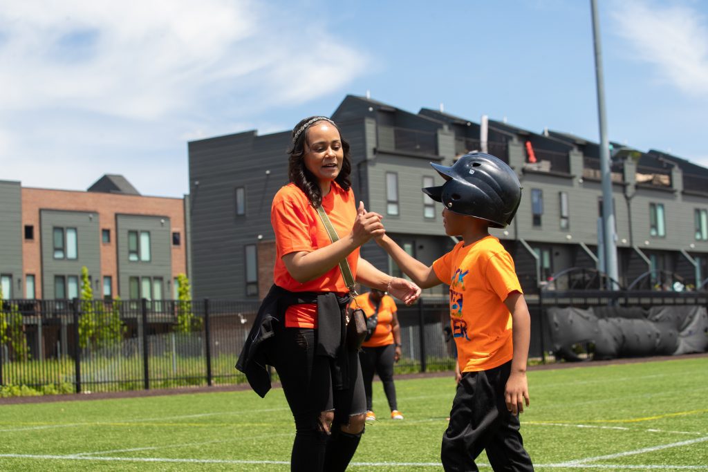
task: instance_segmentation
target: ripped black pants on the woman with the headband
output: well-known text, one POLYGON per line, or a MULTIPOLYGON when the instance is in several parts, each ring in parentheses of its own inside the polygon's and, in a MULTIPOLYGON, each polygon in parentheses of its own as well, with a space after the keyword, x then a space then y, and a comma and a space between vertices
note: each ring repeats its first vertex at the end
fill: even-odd
POLYGON ((350 354, 349 388, 334 390, 330 372, 330 359, 315 355, 317 331, 308 328, 278 328, 271 361, 278 371, 283 393, 295 419, 295 442, 292 444, 292 471, 345 470, 358 445, 358 437, 339 432, 347 425, 351 415, 366 412, 364 382, 358 355, 350 354), (319 427, 323 411, 335 412, 332 436, 319 427), (349 442, 351 447, 342 447, 338 442, 349 442), (354 444, 355 443, 355 444, 354 444), (326 464, 328 449, 336 450, 340 461, 346 464, 326 464), (347 449, 341 452, 342 449, 347 449), (349 450, 353 449, 353 450, 349 450), (343 456, 346 456, 343 458, 343 456))

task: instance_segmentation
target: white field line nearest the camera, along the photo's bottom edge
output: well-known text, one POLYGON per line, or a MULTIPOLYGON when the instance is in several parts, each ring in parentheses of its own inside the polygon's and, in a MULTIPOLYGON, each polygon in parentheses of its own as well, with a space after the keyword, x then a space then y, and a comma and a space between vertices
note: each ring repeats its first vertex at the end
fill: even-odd
MULTIPOLYGON (((55 459, 58 461, 119 461, 119 462, 164 462, 172 464, 278 464, 287 466, 289 461, 249 461, 236 459, 171 459, 164 457, 105 457, 105 456, 59 456, 53 454, 0 454, 1 458, 8 459, 55 459)), ((439 462, 353 462, 351 466, 368 466, 368 467, 435 467, 440 468, 442 464, 439 462)), ((489 464, 477 464, 480 468, 491 468, 489 464)), ((534 464, 536 468, 588 468, 599 470, 618 470, 618 469, 634 469, 634 470, 692 470, 692 471, 708 471, 708 466, 672 466, 667 464, 655 465, 632 465, 621 466, 617 464, 534 464)))

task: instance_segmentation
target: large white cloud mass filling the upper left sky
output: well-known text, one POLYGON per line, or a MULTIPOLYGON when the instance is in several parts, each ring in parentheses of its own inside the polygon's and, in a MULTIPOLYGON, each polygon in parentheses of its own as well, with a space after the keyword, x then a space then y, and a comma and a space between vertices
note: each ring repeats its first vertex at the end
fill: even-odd
POLYGON ((257 122, 365 70, 326 22, 302 28, 306 14, 251 0, 0 0, 0 63, 11 64, 0 68, 2 178, 86 188, 139 168, 156 172, 152 188, 129 180, 156 195, 160 169, 178 165, 170 195, 181 195, 184 137, 257 122), (146 166, 151 155, 165 161, 146 166))

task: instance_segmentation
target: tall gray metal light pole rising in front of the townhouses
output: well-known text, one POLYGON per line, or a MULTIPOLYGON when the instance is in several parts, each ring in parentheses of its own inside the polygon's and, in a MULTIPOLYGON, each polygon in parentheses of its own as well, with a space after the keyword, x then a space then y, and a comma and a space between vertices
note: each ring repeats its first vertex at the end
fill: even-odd
MULTIPOLYGON (((600 174, 603 182, 603 234, 605 248, 605 272, 612 280, 619 280, 617 273, 617 234, 615 234, 615 208, 612 205, 612 165, 610 163, 610 141, 607 139, 607 118, 605 116, 605 86, 603 85, 603 53, 600 50, 600 20, 598 5, 590 0, 593 11, 593 43, 595 45, 595 80, 598 84, 598 117, 600 119, 600 174)), ((598 239, 599 239, 598 234, 598 239)), ((599 241, 598 241, 599 246, 599 241)), ((615 289, 610 282, 609 289, 615 289)))

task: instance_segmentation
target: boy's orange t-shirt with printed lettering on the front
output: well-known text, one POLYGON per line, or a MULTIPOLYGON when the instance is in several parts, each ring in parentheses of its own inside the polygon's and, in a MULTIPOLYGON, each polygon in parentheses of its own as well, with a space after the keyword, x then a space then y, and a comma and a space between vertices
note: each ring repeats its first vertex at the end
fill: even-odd
POLYGON ((438 279, 450 281, 450 324, 462 372, 489 370, 513 357, 511 313, 504 300, 521 285, 514 261, 493 236, 435 260, 438 279))

